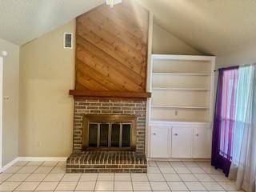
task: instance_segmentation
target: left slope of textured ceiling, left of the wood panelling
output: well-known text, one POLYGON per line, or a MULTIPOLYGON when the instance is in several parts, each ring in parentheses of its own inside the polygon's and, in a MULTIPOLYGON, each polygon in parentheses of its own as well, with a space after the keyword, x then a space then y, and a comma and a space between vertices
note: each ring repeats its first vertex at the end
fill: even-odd
POLYGON ((105 0, 0 0, 0 38, 22 45, 105 0))

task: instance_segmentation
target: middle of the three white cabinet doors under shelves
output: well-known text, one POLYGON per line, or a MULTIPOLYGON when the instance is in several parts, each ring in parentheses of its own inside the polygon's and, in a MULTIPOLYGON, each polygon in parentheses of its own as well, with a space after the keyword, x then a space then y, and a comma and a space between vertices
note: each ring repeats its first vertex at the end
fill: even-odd
POLYGON ((172 129, 172 158, 191 158, 192 128, 174 126, 172 129))

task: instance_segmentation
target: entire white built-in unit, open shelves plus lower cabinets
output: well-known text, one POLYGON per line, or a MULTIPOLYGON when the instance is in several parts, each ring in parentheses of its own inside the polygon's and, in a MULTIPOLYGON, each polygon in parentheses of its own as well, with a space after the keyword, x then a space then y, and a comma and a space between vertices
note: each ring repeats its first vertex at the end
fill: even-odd
POLYGON ((210 158, 214 57, 153 54, 149 158, 210 158))

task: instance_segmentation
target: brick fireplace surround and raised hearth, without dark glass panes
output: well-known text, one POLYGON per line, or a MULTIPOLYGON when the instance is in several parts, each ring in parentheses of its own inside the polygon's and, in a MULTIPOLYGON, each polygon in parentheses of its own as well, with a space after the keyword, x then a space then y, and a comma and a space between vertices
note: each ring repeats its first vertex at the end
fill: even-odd
MULTIPOLYGON (((126 131, 126 134, 128 132, 126 131)), ((146 99, 74 98, 73 154, 67 160, 66 171, 146 172, 145 132, 146 99), (94 147, 88 146, 88 143, 85 144, 89 136, 89 131, 85 127, 88 126, 85 125, 89 123, 88 119, 91 119, 91 123, 97 123, 97 126, 105 125, 108 129, 111 125, 118 126, 120 123, 125 130, 130 125, 130 128, 134 129, 130 131, 130 141, 134 139, 134 147, 117 147, 118 149, 111 150, 110 144, 108 147, 99 144, 94 147)), ((131 144, 132 142, 130 146, 131 144)))

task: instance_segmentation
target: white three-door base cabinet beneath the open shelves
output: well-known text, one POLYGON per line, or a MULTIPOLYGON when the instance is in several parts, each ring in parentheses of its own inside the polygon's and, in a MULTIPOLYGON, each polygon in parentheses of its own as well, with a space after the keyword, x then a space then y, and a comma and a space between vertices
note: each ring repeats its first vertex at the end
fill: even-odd
POLYGON ((210 158, 209 123, 151 122, 150 158, 210 158))

